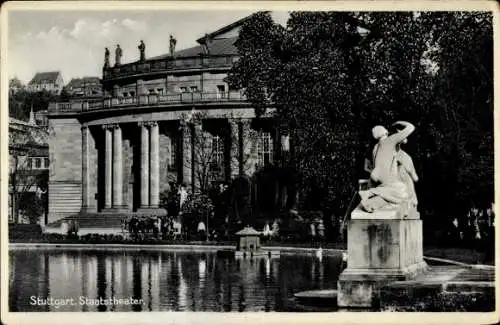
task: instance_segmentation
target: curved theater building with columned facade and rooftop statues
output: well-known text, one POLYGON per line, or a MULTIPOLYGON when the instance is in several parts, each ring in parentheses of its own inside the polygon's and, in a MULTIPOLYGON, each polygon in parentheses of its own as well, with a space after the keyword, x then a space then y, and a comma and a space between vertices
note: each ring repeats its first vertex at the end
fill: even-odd
MULTIPOLYGON (((196 192, 273 165, 282 141, 272 108, 257 119, 225 82, 243 20, 184 50, 171 39, 169 54, 147 58, 135 49, 136 62, 105 62, 102 98, 50 105, 50 221, 161 213, 160 193, 171 182, 196 192)), ((276 191, 276 183, 254 182, 252 204, 285 202, 286 191, 276 191)))

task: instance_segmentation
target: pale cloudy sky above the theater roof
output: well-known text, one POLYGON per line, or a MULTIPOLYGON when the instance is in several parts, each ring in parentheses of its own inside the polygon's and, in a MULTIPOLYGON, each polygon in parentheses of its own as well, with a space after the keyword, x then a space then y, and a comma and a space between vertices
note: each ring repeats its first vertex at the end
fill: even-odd
MULTIPOLYGON (((7 67, 9 78, 27 84, 37 72, 60 71, 65 83, 71 78, 102 77, 104 48, 120 44, 122 63, 136 61, 140 40, 146 57, 168 53, 169 35, 176 50, 195 46, 196 39, 255 11, 11 11, 8 16, 7 67)), ((272 12, 285 25, 286 11, 272 12)))

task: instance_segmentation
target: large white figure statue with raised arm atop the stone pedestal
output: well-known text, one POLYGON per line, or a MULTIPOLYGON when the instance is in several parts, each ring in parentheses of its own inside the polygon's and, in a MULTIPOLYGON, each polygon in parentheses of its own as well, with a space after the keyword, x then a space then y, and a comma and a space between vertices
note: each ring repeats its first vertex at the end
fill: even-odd
POLYGON ((401 150, 400 145, 413 133, 415 127, 404 121, 396 122, 394 126, 403 128, 391 135, 380 125, 372 129, 373 137, 378 140, 373 149, 373 170, 370 174, 372 187, 359 191, 361 207, 367 212, 408 201, 412 190, 414 193, 413 181, 417 178, 413 162, 409 155, 401 150), (399 168, 399 166, 402 167, 399 168), (409 179, 403 175, 403 172, 408 173, 411 178, 411 188, 408 186, 409 179))

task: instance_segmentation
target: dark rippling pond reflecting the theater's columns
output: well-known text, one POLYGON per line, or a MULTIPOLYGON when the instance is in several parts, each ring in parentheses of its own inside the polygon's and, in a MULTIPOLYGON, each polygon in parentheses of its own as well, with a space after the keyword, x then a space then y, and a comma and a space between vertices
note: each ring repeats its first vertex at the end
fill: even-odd
POLYGON ((332 256, 19 250, 10 252, 9 305, 23 312, 292 311, 294 293, 335 288, 339 271, 332 256))

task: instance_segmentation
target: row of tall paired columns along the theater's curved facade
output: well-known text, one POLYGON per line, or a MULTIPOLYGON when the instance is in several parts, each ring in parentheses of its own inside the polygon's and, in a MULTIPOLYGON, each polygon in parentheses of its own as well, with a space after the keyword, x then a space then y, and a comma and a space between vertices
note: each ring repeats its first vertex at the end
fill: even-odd
MULTIPOLYGON (((229 175, 235 177, 243 173, 250 147, 243 146, 242 137, 246 136, 250 128, 250 119, 229 120, 229 134, 231 146, 229 154, 229 175)), ((104 211, 122 212, 130 207, 123 198, 123 132, 120 124, 104 124, 100 126, 104 132, 104 211)), ((137 122, 140 129, 140 207, 139 210, 158 209, 160 204, 160 132, 157 121, 137 122)), ((84 125, 82 131, 82 211, 95 210, 95 201, 92 201, 89 185, 91 173, 97 172, 97 166, 91 166, 89 126, 84 125)), ((184 123, 180 128, 182 137, 178 153, 182 155, 181 170, 178 177, 192 191, 197 186, 196 170, 198 162, 193 152, 196 137, 201 134, 200 123, 184 123)))

